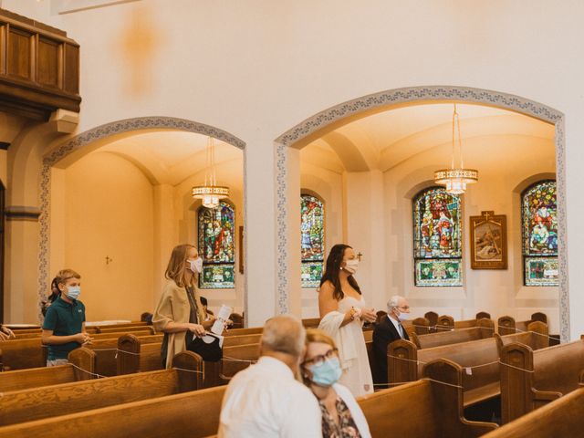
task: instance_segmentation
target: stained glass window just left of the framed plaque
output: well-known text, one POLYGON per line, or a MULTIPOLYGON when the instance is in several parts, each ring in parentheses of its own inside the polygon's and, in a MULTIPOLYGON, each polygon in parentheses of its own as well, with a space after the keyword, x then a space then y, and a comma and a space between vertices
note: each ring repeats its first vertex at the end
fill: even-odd
POLYGON ((461 199, 432 187, 412 207, 415 286, 463 286, 461 199))

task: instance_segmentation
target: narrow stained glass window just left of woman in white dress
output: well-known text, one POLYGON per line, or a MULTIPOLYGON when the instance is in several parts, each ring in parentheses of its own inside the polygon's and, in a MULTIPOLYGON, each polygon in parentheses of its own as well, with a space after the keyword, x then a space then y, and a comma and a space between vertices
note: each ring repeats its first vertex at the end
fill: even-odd
POLYGON ((302 287, 318 287, 325 253, 324 204, 316 196, 300 195, 302 287))

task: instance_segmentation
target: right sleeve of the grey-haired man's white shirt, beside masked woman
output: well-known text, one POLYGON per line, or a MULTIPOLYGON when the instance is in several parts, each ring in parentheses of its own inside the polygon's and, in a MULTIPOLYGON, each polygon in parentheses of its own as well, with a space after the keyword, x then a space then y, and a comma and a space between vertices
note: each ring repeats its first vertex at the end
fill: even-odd
POLYGON ((322 422, 317 398, 308 390, 295 391, 284 412, 282 438, 322 438, 322 422))

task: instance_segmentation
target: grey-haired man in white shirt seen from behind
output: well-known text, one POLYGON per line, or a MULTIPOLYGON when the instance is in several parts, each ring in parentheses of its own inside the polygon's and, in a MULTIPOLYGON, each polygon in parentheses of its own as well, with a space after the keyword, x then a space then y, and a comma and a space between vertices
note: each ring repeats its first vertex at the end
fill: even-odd
POLYGON ((295 379, 304 355, 305 329, 293 316, 266 322, 260 359, 235 374, 225 391, 220 438, 320 438, 318 401, 295 379))

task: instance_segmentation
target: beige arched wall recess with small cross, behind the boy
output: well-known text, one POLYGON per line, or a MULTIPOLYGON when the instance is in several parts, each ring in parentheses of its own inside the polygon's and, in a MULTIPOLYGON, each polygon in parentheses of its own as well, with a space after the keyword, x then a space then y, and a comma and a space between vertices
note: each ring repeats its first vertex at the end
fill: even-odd
POLYGON ((52 212, 51 274, 64 266, 78 271, 89 321, 140 319, 153 303, 151 183, 107 152, 91 153, 60 172, 52 184, 62 215, 52 212))

